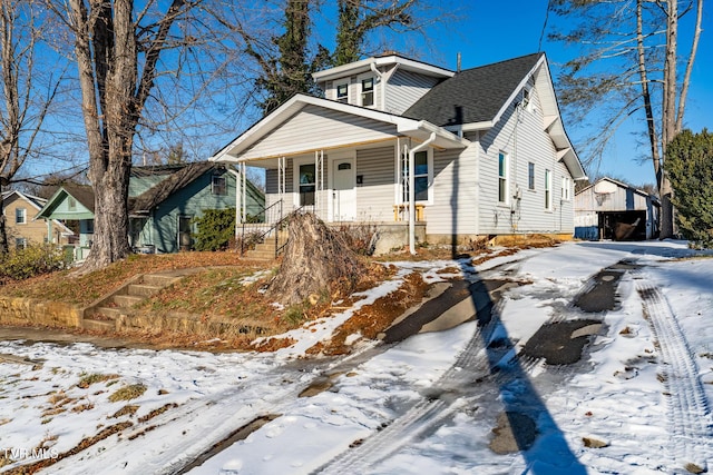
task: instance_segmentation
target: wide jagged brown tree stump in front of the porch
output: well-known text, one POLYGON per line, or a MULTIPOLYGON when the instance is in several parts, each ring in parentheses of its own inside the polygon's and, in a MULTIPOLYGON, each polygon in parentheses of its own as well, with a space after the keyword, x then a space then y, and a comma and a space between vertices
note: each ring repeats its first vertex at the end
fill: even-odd
POLYGON ((284 305, 301 304, 325 291, 332 298, 355 288, 365 271, 344 239, 311 212, 290 218, 290 240, 267 296, 284 305))

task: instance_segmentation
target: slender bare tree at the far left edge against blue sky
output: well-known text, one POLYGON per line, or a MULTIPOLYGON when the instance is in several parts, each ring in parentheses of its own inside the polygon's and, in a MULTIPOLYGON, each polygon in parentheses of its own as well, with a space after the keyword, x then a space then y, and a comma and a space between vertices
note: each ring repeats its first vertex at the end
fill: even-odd
MULTIPOLYGON (((38 67, 38 27, 45 20, 39 7, 33 0, 0 0, 0 191, 28 159, 41 154, 45 119, 62 80, 61 72, 51 76, 38 67)), ((8 250, 0 202, 0 253, 8 250)))

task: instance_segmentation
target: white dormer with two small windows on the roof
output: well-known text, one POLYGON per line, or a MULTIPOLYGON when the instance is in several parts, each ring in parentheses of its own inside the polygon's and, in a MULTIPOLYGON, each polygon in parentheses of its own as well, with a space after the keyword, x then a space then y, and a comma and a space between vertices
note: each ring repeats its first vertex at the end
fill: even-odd
POLYGON ((325 99, 402 113, 453 71, 384 53, 312 75, 325 99))

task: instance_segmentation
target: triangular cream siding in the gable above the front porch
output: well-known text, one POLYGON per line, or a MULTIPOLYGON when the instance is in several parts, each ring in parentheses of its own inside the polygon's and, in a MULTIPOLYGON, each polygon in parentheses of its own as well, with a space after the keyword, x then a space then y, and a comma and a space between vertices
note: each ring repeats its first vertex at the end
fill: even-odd
POLYGON ((310 150, 340 148, 345 144, 387 140, 395 126, 336 110, 306 106, 241 156, 261 159, 297 155, 310 150))

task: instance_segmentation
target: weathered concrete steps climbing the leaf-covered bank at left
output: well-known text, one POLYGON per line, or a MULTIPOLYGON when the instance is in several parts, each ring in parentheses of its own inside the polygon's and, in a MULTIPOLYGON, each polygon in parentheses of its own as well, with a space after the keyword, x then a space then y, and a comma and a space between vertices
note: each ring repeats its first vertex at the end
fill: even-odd
POLYGON ((134 306, 177 280, 179 273, 146 274, 133 278, 113 294, 102 297, 85 309, 82 328, 94 331, 114 331, 116 320, 129 315, 134 306))

